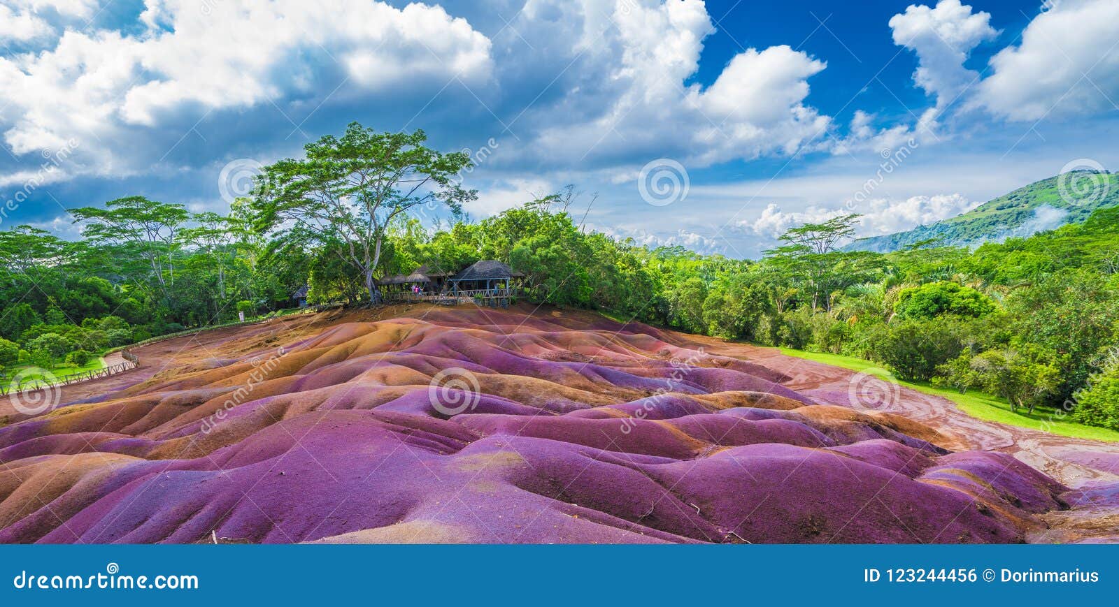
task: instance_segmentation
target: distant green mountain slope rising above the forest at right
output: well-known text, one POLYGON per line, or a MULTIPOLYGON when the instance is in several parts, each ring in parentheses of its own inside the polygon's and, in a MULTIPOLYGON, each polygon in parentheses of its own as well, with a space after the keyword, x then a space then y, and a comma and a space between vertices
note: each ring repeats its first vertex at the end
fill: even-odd
POLYGON ((1119 205, 1119 176, 1071 171, 1000 196, 968 212, 908 231, 863 238, 846 250, 888 253, 928 239, 939 245, 978 246, 1079 224, 1096 209, 1119 205))

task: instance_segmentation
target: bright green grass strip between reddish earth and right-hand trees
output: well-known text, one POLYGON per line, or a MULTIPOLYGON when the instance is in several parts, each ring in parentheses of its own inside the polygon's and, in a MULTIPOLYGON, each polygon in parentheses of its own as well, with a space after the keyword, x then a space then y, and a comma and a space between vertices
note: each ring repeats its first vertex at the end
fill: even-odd
MULTIPOLYGON (((782 348, 781 353, 850 369, 852 371, 866 371, 888 379, 887 373, 882 371, 878 364, 855 357, 806 352, 802 350, 792 350, 791 348, 782 348)), ((1083 424, 1076 424, 1068 419, 1057 419, 1054 416, 1055 410, 1049 407, 1038 407, 1034 409, 1032 415, 1027 415, 1024 410, 1022 412, 1012 412, 1010 405, 1005 399, 991 395, 985 395, 975 390, 968 390, 967 393, 961 395, 958 390, 940 388, 924 381, 913 382, 897 379, 895 381, 914 390, 944 397, 955 402, 962 411, 979 419, 999 421, 1008 426, 1018 426, 1019 428, 1045 430, 1072 438, 1119 442, 1119 431, 1097 428, 1096 426, 1084 426, 1083 424), (1050 419, 1052 420, 1050 421, 1050 419)))

